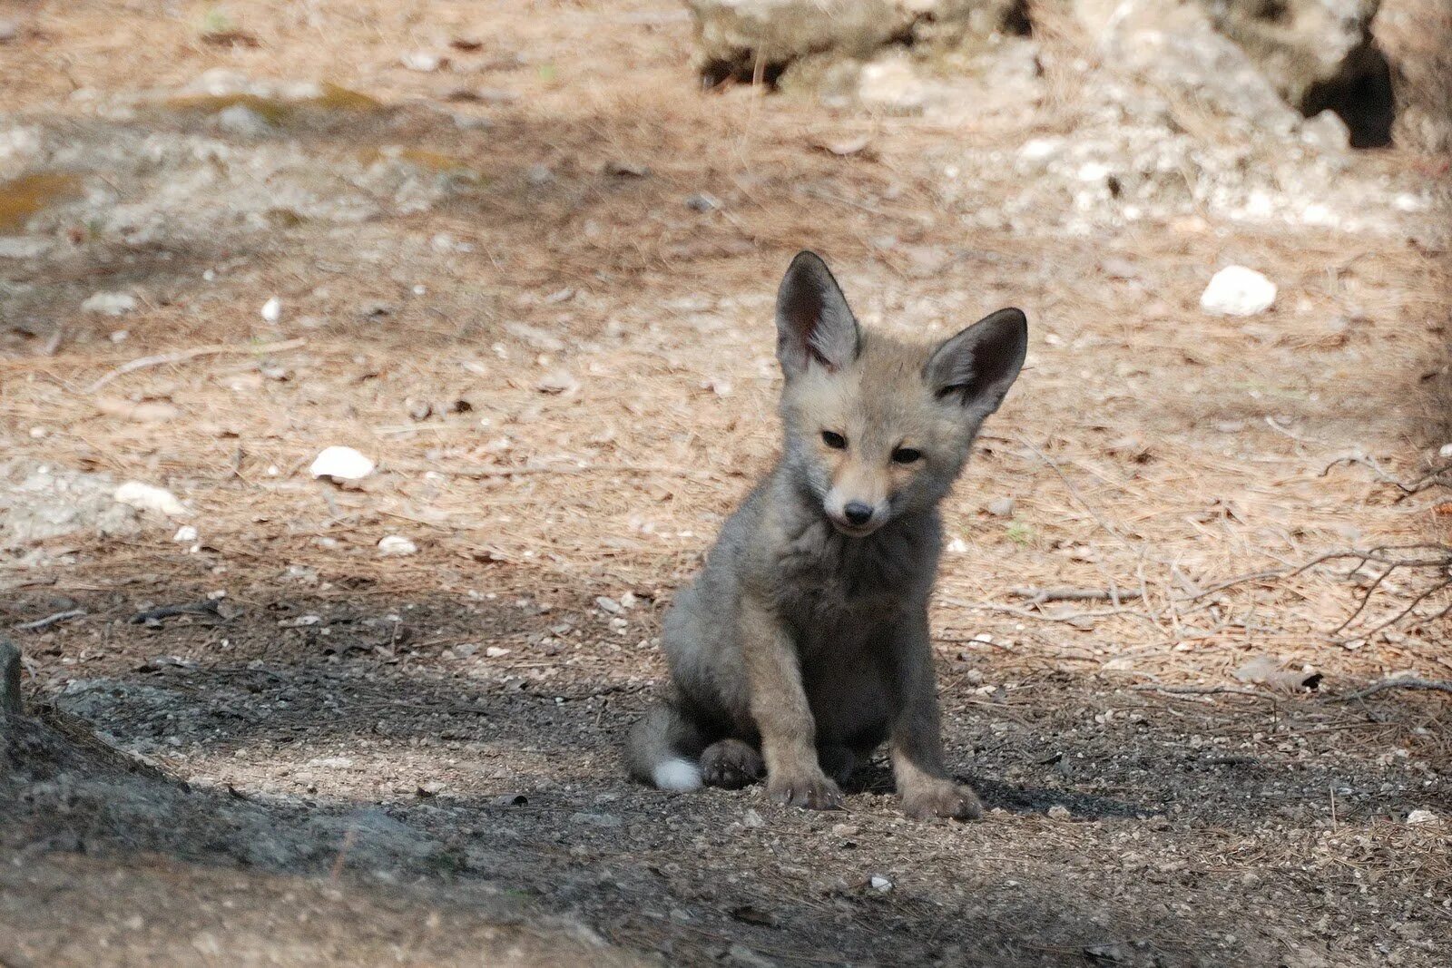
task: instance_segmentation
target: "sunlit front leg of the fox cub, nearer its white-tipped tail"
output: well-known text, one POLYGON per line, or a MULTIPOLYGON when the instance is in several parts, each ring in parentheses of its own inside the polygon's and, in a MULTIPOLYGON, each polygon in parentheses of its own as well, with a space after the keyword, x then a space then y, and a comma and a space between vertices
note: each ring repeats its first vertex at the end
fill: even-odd
POLYGON ((761 753, 767 760, 767 792, 794 807, 841 807, 842 791, 817 762, 816 723, 802 688, 796 644, 775 614, 751 596, 742 601, 741 647, 751 717, 761 731, 761 753))

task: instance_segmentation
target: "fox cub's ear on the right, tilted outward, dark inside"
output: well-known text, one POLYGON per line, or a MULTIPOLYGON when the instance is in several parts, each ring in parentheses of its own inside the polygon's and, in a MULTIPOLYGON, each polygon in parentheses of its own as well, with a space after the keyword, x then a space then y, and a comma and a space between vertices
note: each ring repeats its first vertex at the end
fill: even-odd
POLYGON ((987 417, 999 408, 1028 353, 1028 318, 999 309, 945 340, 923 367, 938 399, 954 399, 987 417))

